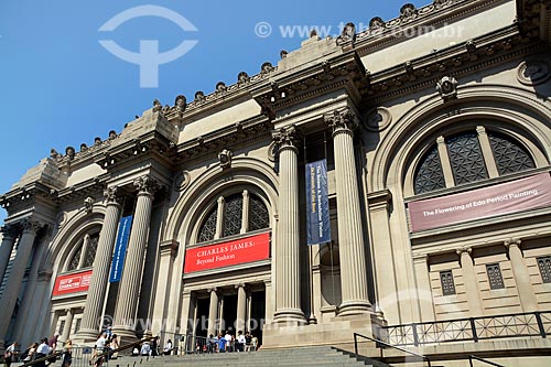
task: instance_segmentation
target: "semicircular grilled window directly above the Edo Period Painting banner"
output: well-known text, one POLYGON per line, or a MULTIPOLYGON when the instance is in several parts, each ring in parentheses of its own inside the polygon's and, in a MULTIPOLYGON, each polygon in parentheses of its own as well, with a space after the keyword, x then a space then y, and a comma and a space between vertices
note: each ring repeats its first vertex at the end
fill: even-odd
POLYGON ((447 186, 536 168, 533 159, 515 138, 478 127, 441 137, 431 145, 414 173, 415 194, 446 187, 443 165, 452 172, 447 186))

